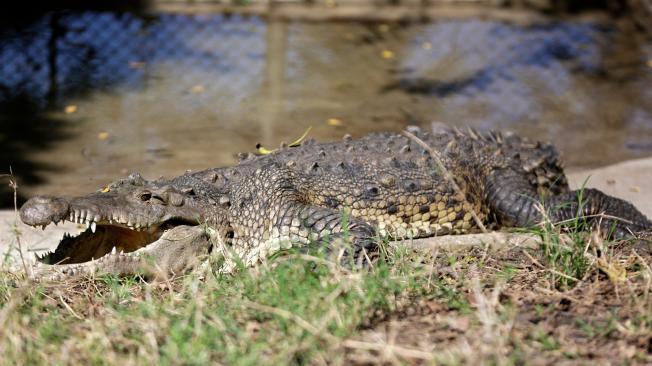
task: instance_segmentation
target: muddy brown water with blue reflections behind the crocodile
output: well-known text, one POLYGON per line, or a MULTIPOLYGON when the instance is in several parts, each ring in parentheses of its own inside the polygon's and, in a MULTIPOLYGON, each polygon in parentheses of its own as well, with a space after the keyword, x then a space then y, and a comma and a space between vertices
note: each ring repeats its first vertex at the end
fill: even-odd
POLYGON ((508 129, 575 168, 652 155, 652 43, 590 21, 51 14, 3 30, 0 91, 0 162, 25 196, 231 164, 309 127, 508 129))

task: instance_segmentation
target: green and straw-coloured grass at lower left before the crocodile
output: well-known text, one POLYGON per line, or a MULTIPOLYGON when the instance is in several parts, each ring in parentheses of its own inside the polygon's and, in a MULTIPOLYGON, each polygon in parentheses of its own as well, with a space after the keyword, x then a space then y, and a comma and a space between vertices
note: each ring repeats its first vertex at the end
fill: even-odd
POLYGON ((219 263, 170 282, 138 277, 35 285, 0 274, 3 359, 51 363, 307 363, 421 293, 401 255, 352 270, 288 253, 226 275, 219 263))

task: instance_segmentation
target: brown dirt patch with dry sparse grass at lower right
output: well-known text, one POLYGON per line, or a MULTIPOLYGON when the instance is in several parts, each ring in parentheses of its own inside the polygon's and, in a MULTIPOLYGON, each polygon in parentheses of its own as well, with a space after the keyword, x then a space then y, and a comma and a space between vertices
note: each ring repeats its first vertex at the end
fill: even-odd
MULTIPOLYGON (((624 245, 620 263, 652 263, 650 244, 624 245)), ((577 286, 550 286, 549 269, 523 249, 447 254, 433 273, 451 295, 405 299, 379 314, 347 352, 347 363, 650 364, 652 280, 633 267, 620 280, 591 271, 577 286), (455 263, 450 264, 451 257, 455 263), (379 346, 380 345, 380 346, 379 346), (434 355, 434 356, 433 356, 434 355)), ((623 267, 625 268, 625 267, 623 267)))

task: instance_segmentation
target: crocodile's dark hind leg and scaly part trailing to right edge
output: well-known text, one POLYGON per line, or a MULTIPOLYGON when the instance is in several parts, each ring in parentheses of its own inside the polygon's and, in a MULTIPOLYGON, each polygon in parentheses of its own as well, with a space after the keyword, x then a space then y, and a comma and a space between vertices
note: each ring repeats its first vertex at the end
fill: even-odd
POLYGON ((487 202, 504 226, 536 225, 544 219, 543 207, 553 223, 568 225, 577 218, 590 227, 600 226, 615 238, 652 231, 652 222, 631 203, 597 189, 540 197, 521 174, 512 170, 492 173, 486 187, 487 202))

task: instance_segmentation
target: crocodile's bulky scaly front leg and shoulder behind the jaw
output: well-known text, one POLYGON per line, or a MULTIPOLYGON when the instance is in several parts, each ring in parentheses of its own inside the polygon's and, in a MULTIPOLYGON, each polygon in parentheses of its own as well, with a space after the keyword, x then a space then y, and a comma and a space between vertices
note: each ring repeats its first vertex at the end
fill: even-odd
POLYGON ((244 265, 255 265, 283 249, 311 245, 333 253, 341 252, 339 244, 348 245, 346 259, 358 263, 376 250, 373 227, 343 209, 314 202, 306 193, 305 177, 295 171, 270 163, 242 175, 224 201, 232 230, 227 244, 244 265))

